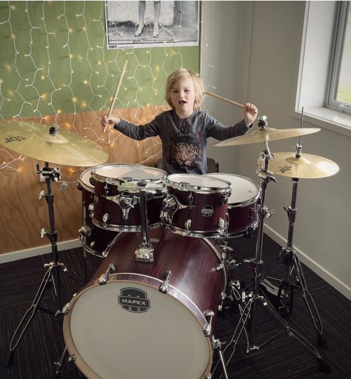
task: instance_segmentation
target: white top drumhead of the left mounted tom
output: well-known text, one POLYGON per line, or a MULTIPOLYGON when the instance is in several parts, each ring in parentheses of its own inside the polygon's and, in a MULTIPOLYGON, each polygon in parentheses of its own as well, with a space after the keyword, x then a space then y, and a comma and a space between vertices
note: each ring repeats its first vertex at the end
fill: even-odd
POLYGON ((142 166, 140 164, 109 164, 93 170, 92 176, 98 180, 125 180, 137 182, 138 180, 161 180, 167 175, 159 168, 142 166))

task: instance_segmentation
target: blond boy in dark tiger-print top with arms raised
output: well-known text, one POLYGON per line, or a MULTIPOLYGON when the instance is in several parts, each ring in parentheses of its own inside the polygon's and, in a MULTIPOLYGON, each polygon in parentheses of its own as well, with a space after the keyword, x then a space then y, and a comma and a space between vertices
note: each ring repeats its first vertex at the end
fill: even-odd
POLYGON ((246 134, 255 121, 258 110, 246 103, 244 119, 234 126, 224 126, 206 112, 199 110, 204 95, 201 79, 188 69, 178 69, 166 83, 166 101, 171 110, 162 112, 150 123, 135 126, 111 115, 102 125, 114 128, 134 140, 159 135, 162 141, 162 169, 168 174, 207 172, 206 140, 208 137, 227 140, 246 134))

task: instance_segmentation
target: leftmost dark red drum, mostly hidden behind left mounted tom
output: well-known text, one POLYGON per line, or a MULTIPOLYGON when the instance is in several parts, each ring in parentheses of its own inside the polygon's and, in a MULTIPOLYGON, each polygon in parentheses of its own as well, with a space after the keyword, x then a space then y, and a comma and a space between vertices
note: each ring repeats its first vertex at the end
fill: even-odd
POLYGON ((112 244, 114 237, 117 236, 117 232, 111 230, 105 230, 93 225, 91 215, 93 215, 94 208, 94 187, 90 182, 91 171, 96 168, 100 168, 103 165, 88 168, 81 173, 79 179, 78 189, 81 191, 81 205, 83 213, 83 226, 79 230, 79 235, 83 246, 86 251, 93 255, 103 258, 104 253, 112 244))

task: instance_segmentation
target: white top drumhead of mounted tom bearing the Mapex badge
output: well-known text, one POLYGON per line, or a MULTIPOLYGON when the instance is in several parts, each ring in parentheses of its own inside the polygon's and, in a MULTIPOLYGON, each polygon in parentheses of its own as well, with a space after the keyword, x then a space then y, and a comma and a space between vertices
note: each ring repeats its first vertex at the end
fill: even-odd
POLYGON ((230 182, 222 178, 211 178, 208 175, 195 174, 172 174, 168 175, 167 182, 176 184, 178 187, 194 187, 194 189, 226 189, 230 187, 230 182))

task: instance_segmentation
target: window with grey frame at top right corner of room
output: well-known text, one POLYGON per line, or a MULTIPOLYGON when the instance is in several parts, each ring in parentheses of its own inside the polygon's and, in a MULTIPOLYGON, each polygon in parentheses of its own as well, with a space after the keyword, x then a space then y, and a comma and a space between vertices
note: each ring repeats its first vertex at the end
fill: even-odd
POLYGON ((351 7, 340 1, 326 107, 351 114, 351 7))

